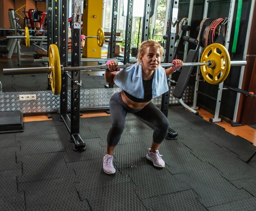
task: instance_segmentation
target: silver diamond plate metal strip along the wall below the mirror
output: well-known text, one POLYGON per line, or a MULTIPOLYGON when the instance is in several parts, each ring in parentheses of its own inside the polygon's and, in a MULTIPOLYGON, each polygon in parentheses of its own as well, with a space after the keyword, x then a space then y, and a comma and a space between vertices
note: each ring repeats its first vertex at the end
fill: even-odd
MULTIPOLYGON (((171 86, 169 104, 178 104, 177 98, 172 96, 174 86, 171 86)), ((182 98, 183 102, 193 101, 193 86, 187 86, 182 98)), ((80 109, 95 109, 108 107, 111 96, 121 91, 120 88, 113 89, 81 89, 80 109)), ((70 109, 70 90, 68 91, 68 109, 70 109)), ((21 113, 52 113, 56 112, 60 104, 60 96, 52 91, 25 91, 0 93, 0 111, 20 111, 21 113), (36 94, 36 100, 20 101, 19 95, 36 94)), ((154 98, 155 105, 161 105, 162 96, 154 98)))

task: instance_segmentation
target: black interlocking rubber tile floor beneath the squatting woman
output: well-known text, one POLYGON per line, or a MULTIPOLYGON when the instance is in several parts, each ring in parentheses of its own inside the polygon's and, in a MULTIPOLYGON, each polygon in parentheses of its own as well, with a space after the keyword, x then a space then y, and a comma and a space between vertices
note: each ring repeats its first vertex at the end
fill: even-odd
MULTIPOLYGON (((25 204, 25 199, 2 202, 2 194, 13 195, 8 188, 3 188, 9 184, 5 182, 0 187, 0 210, 40 209, 40 202, 47 207, 49 205, 45 205, 46 203, 54 204, 56 200, 59 201, 55 203, 56 207, 53 205, 53 209, 62 210, 65 210, 64 205, 68 203, 77 210, 80 207, 75 207, 74 204, 82 206, 83 203, 84 210, 88 206, 89 210, 194 211, 204 210, 204 207, 209 210, 236 210, 235 205, 239 210, 244 210, 244 199, 255 198, 252 197, 255 194, 255 183, 251 179, 256 174, 256 160, 254 158, 246 164, 241 158, 246 154, 247 148, 239 149, 244 146, 240 142, 248 141, 220 127, 211 127, 211 123, 181 106, 170 107, 168 112, 170 127, 177 131, 178 136, 176 140, 165 139, 159 148, 159 153, 166 162, 166 168, 162 170, 153 167, 152 162, 146 159, 153 130, 134 114, 128 113, 126 116, 128 124, 114 151, 114 166, 117 170, 114 175, 107 175, 102 169, 106 135, 111 125, 110 117, 81 118, 80 135, 87 147, 85 151, 73 151, 74 143, 70 142, 70 134, 58 119, 58 114, 54 114, 53 120, 25 122, 23 134, 0 134, 2 172, 13 172, 14 170, 6 169, 18 168, 16 171, 20 175, 13 175, 17 178, 18 190, 25 194, 28 203, 25 204), (40 143, 44 143, 44 138, 46 142, 42 147, 40 143), (51 152, 59 149, 56 142, 65 147, 61 148, 65 151, 51 152), (225 146, 229 144, 236 145, 234 152, 226 149, 225 146), (31 153, 38 154, 30 155, 31 153), (71 179, 67 180, 67 177, 71 179), (52 180, 56 181, 51 183, 52 180), (158 181, 162 183, 158 185, 158 181), (180 185, 181 190, 182 187, 191 190, 179 191, 180 185), (153 187, 152 190, 150 187, 153 187), (145 198, 154 194, 154 197, 145 198), (32 195, 38 201, 34 202, 32 195), (62 198, 58 199, 58 195, 62 198)), ((8 178, 8 175, 4 177, 8 178)), ((253 202, 248 202, 248 206, 244 207, 250 210, 253 205, 253 202)), ((70 208, 69 205, 66 208, 70 208)))

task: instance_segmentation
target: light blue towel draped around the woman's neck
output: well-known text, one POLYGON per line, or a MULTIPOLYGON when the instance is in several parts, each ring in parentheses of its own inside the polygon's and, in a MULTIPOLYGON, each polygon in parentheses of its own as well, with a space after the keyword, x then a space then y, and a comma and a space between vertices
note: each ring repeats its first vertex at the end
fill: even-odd
MULTIPOLYGON (((114 78, 115 84, 136 98, 144 98, 142 82, 142 64, 133 64, 131 67, 121 69, 114 78)), ((152 83, 152 97, 156 98, 168 91, 168 84, 164 68, 159 66, 155 71, 152 83)))

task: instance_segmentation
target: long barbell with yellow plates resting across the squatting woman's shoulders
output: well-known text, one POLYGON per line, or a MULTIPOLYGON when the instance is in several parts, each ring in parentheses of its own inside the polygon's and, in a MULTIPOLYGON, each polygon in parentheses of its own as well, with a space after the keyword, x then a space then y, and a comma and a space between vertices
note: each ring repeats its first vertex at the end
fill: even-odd
MULTIPOLYGON (((230 61, 227 49, 218 43, 210 44, 202 53, 200 62, 183 63, 183 66, 200 66, 201 73, 208 83, 220 84, 230 70, 230 66, 244 66, 246 61, 230 61)), ((173 67, 175 64, 161 64, 162 67, 173 67)), ((131 64, 119 65, 120 69, 130 67, 131 64)), ((106 65, 85 67, 63 67, 60 62, 58 47, 51 44, 49 47, 49 67, 29 67, 3 69, 4 75, 49 73, 49 82, 55 95, 61 93, 61 74, 69 71, 99 71, 106 70, 106 65)))

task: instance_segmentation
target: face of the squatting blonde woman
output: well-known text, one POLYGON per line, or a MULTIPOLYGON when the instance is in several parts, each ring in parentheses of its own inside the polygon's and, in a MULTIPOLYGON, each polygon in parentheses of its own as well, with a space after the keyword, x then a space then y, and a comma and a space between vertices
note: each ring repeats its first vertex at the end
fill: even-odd
POLYGON ((144 56, 140 57, 144 70, 155 71, 161 63, 160 50, 158 47, 148 47, 144 56))

